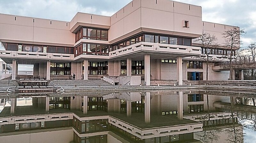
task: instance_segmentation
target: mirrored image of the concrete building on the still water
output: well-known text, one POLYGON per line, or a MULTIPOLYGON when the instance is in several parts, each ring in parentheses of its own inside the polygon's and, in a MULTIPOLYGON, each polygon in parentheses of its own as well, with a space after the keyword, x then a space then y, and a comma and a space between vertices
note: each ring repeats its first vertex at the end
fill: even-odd
POLYGON ((68 133, 66 140, 79 143, 199 142, 195 132, 204 132, 208 123, 223 130, 228 128, 227 123, 231 125, 231 114, 216 112, 214 107, 216 102, 230 103, 230 97, 209 95, 207 102, 207 95, 198 91, 86 93, 22 99, 26 105, 27 101, 32 105, 17 106, 20 98, 12 98, 0 112, 0 139, 14 139, 13 135, 22 136, 23 132, 37 136, 36 132, 51 131, 68 133), (212 122, 201 118, 207 115, 208 106, 212 122))

